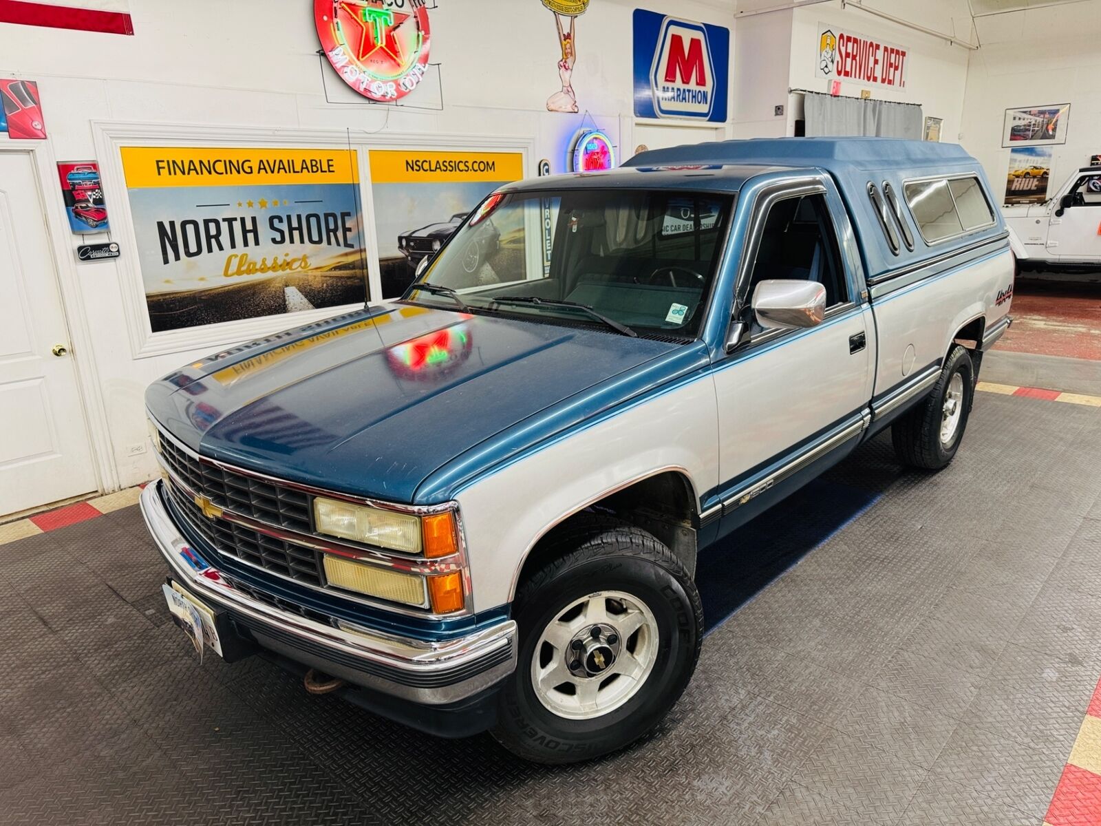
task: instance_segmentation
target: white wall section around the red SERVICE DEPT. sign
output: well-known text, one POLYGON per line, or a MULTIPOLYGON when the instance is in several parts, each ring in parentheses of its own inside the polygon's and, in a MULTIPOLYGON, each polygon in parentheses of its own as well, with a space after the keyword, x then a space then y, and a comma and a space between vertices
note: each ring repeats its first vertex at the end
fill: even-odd
MULTIPOLYGON (((936 32, 972 42, 974 39, 967 0, 864 0, 864 4, 936 32)), ((968 50, 873 17, 851 3, 842 9, 840 0, 806 6, 794 12, 788 75, 793 89, 828 91, 828 81, 815 76, 819 22, 879 37, 907 51, 905 89, 842 80, 842 95, 860 97, 862 89, 869 89, 877 100, 920 104, 925 117, 944 119, 940 140, 957 142, 967 84, 968 50)))

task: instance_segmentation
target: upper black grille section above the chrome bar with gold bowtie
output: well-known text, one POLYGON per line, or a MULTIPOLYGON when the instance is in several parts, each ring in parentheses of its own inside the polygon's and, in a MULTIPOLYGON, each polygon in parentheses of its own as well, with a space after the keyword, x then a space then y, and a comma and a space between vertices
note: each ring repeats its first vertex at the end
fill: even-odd
POLYGON ((200 461, 163 433, 161 455, 187 487, 219 508, 298 533, 312 532, 305 493, 200 461))

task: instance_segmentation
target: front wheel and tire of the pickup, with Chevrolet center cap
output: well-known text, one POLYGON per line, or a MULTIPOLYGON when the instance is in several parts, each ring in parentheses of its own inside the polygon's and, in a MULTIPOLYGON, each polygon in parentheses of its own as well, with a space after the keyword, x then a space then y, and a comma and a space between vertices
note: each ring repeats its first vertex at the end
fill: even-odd
POLYGON ((574 763, 623 748, 665 717, 696 670, 704 610, 680 562, 641 529, 584 514, 553 544, 516 591, 519 659, 492 735, 524 760, 574 763), (536 672, 548 675, 543 688, 536 672))

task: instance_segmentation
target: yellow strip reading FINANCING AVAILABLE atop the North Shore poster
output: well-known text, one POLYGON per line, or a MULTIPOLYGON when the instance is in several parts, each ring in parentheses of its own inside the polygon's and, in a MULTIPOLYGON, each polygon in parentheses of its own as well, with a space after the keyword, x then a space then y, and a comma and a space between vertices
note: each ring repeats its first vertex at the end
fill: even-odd
POLYGON ((358 182, 356 152, 347 149, 123 146, 121 152, 130 189, 358 182))

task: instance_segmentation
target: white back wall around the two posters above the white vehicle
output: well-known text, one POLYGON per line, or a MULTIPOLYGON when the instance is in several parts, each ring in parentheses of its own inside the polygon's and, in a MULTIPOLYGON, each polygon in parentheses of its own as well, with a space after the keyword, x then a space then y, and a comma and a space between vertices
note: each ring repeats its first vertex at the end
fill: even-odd
POLYGON ((1070 104, 1067 142, 1053 146, 1051 187, 1101 153, 1101 13, 1098 3, 979 18, 982 48, 971 55, 961 143, 1004 193, 1010 150, 1006 109, 1070 104))

